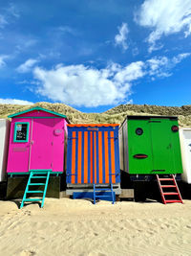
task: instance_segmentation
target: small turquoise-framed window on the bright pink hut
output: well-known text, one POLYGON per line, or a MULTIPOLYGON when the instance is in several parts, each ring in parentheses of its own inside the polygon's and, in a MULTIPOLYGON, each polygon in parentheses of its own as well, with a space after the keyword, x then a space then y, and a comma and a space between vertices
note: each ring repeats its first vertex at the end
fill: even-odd
POLYGON ((13 142, 28 142, 29 140, 29 123, 16 122, 14 125, 13 142))

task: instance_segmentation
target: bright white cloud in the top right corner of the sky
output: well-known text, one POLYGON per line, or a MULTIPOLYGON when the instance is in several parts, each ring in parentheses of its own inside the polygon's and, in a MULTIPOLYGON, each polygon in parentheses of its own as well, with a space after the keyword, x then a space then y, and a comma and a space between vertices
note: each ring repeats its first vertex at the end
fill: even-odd
POLYGON ((190 0, 145 0, 137 13, 136 21, 143 27, 153 29, 147 38, 149 52, 162 46, 156 41, 162 35, 184 32, 185 37, 191 34, 191 1, 190 0))

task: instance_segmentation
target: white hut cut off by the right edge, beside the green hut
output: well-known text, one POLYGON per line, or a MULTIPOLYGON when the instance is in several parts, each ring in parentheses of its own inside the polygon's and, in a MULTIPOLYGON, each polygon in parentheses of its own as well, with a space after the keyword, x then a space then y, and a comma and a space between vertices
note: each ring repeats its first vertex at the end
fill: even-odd
POLYGON ((180 146, 183 166, 181 179, 191 184, 191 128, 180 128, 180 146))

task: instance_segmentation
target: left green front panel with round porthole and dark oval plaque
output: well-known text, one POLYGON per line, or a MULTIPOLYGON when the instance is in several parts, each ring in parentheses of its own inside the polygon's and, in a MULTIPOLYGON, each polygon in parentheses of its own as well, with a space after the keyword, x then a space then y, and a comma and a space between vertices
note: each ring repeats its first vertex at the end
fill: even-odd
POLYGON ((149 120, 128 120, 129 174, 150 174, 153 170, 149 120))

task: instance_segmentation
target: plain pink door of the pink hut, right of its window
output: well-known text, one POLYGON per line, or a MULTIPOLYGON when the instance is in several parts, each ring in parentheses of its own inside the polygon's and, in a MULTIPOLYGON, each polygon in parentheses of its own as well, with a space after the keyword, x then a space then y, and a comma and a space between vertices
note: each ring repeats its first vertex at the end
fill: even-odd
POLYGON ((30 170, 53 170, 53 119, 32 120, 30 170))

